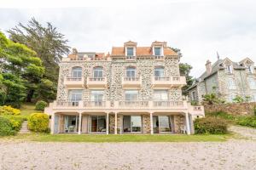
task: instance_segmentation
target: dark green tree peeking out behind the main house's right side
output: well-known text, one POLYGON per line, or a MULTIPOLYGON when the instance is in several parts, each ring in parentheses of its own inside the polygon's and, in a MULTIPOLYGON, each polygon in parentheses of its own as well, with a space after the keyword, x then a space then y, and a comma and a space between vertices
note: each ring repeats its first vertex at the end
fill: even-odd
MULTIPOLYGON (((174 52, 176 52, 180 57, 183 56, 183 54, 181 53, 181 50, 179 48, 172 48, 172 50, 174 52)), ((192 68, 193 67, 191 65, 189 65, 188 63, 180 63, 179 64, 180 75, 186 77, 186 82, 187 82, 187 85, 183 87, 183 94, 186 94, 186 89, 188 89, 194 81, 194 78, 189 76, 189 73, 192 68)))

